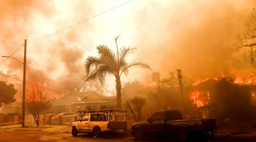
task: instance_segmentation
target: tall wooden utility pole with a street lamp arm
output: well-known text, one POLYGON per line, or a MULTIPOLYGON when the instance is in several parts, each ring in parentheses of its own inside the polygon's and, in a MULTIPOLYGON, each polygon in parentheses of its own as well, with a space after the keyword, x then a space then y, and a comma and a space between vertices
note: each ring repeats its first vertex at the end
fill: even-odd
POLYGON ((24 61, 19 61, 12 56, 2 56, 3 58, 12 58, 23 64, 23 90, 22 90, 22 127, 25 127, 25 91, 26 91, 26 53, 27 53, 27 40, 24 42, 24 61))

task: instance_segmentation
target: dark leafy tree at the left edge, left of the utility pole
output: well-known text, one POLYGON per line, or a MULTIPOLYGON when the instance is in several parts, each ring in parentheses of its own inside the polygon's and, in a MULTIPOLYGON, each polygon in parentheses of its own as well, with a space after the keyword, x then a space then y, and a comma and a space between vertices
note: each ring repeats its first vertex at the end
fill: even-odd
POLYGON ((15 102, 14 95, 17 93, 13 84, 6 84, 4 81, 0 81, 0 107, 3 104, 9 104, 15 102))

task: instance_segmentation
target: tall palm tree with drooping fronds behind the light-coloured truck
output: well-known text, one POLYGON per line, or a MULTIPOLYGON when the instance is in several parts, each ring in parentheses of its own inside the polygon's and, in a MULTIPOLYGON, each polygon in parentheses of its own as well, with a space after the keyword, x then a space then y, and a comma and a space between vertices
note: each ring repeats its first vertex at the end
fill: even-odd
MULTIPOLYGON (((115 37, 115 42, 120 36, 115 37)), ((122 47, 118 52, 116 43, 116 53, 111 51, 106 45, 97 46, 99 57, 88 56, 85 61, 86 80, 99 79, 104 84, 106 75, 114 75, 116 79, 116 104, 121 108, 121 75, 128 74, 131 67, 142 67, 150 69, 149 65, 142 62, 127 63, 128 54, 134 51, 134 48, 122 47)))

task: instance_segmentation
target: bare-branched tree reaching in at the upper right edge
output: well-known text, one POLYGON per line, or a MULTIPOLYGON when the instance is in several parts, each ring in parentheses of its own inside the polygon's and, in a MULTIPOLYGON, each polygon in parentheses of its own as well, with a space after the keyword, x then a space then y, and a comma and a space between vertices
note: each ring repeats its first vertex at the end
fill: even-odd
MULTIPOLYGON (((235 51, 244 49, 250 59, 253 72, 256 73, 256 7, 244 23, 244 31, 237 33, 236 42, 233 44, 235 51)), ((256 75, 254 75, 255 77, 256 75)))

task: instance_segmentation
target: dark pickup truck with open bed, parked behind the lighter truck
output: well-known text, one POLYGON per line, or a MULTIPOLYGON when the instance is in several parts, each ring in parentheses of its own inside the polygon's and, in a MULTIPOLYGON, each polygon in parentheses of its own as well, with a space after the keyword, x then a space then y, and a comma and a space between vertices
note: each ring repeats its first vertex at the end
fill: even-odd
POLYGON ((178 141, 186 141, 191 133, 213 134, 217 132, 217 127, 215 119, 183 120, 180 111, 164 110, 156 111, 147 121, 133 123, 130 132, 138 140, 145 136, 167 134, 178 141))

